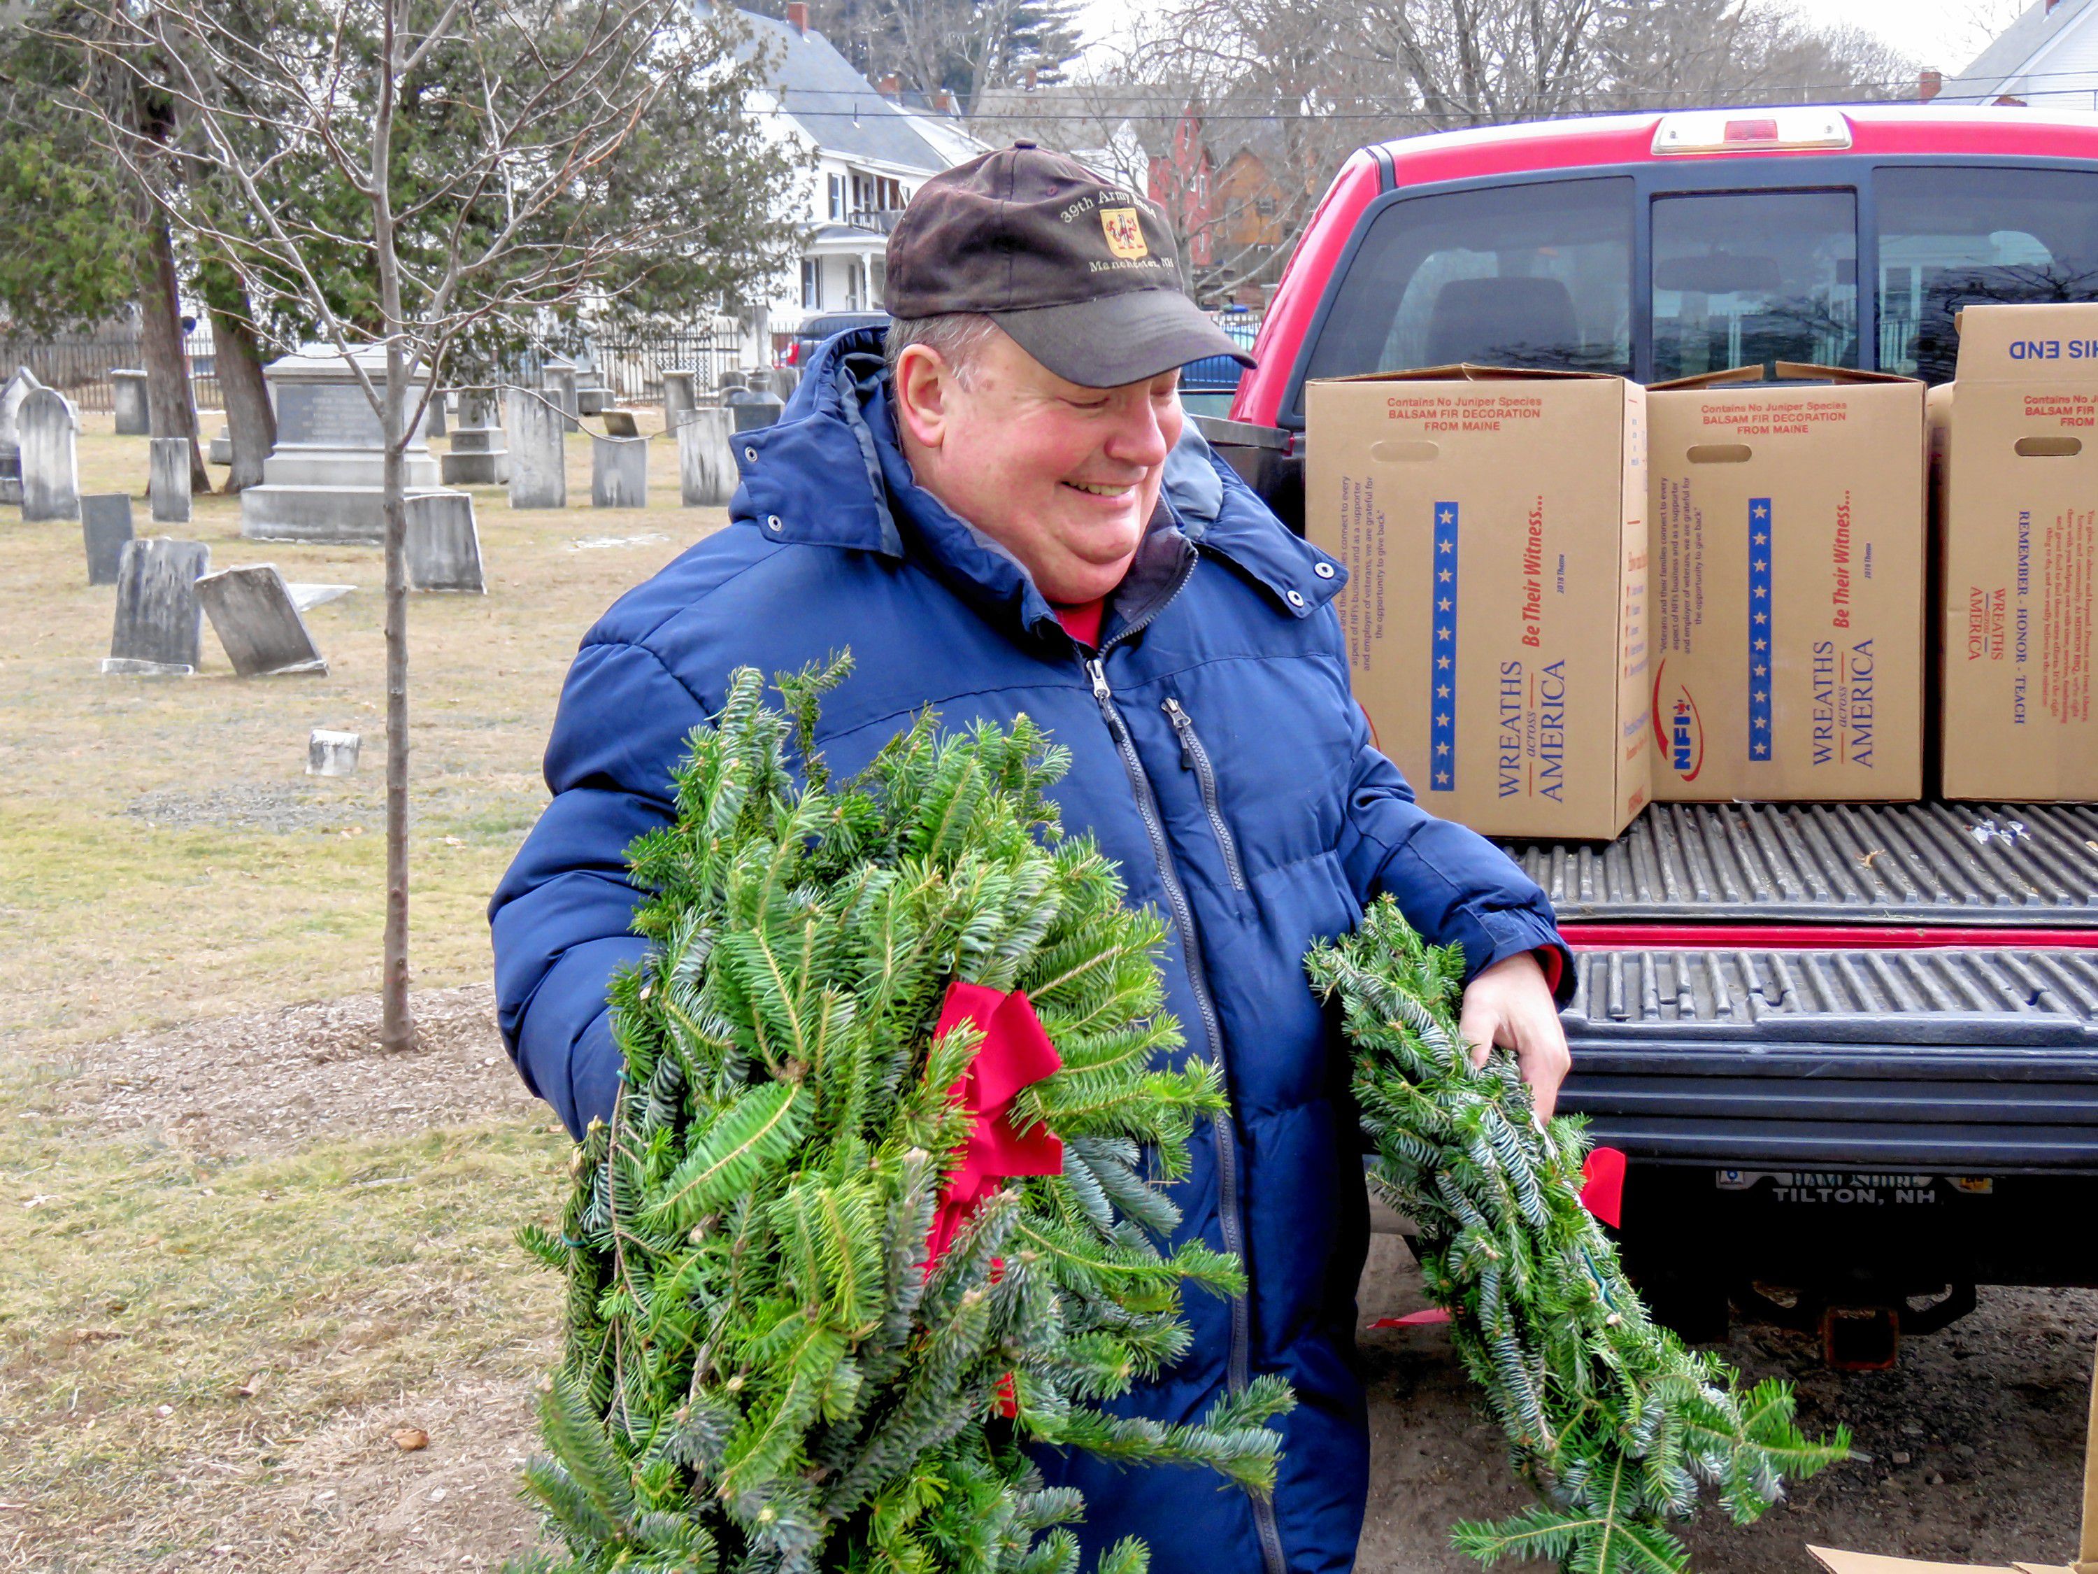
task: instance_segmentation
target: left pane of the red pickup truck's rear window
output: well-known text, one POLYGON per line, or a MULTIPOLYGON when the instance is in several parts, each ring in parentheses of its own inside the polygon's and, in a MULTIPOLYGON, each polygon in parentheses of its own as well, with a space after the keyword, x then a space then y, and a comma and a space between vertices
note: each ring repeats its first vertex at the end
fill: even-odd
POLYGON ((1630 376, 1628 178, 1408 197, 1370 222, 1307 376, 1454 361, 1630 376))

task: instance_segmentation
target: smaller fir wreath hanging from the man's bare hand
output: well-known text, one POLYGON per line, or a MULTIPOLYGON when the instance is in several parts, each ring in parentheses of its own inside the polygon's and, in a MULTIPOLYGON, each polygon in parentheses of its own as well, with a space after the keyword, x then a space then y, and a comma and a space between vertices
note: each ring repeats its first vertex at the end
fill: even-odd
POLYGON ((1701 1490, 1748 1524, 1785 1475, 1848 1454, 1842 1427, 1829 1442, 1800 1433, 1787 1385, 1743 1391, 1727 1362, 1649 1320, 1580 1203, 1580 1121, 1540 1127, 1504 1051, 1473 1068, 1456 949, 1425 944, 1383 898, 1305 965, 1343 1005, 1372 1184, 1420 1226, 1427 1291, 1540 1496, 1498 1524, 1456 1526, 1458 1549, 1481 1564, 1672 1574, 1687 1557, 1668 1522, 1701 1490))

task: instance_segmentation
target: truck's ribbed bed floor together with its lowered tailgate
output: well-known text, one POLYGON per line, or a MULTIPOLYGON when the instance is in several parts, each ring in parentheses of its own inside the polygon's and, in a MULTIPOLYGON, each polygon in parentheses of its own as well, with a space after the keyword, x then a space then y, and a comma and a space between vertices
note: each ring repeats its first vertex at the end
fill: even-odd
POLYGON ((1563 1108, 1597 1140, 2098 1175, 2098 812, 1660 804, 1508 850, 1576 946, 1563 1108))

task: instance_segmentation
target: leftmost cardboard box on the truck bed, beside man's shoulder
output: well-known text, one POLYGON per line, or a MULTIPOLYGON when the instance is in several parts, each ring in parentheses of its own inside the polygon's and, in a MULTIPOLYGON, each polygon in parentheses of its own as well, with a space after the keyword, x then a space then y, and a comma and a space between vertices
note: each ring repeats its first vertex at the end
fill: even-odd
POLYGON ((1305 390, 1305 533, 1355 697, 1422 806, 1613 837, 1647 802, 1645 390, 1433 367, 1305 390))

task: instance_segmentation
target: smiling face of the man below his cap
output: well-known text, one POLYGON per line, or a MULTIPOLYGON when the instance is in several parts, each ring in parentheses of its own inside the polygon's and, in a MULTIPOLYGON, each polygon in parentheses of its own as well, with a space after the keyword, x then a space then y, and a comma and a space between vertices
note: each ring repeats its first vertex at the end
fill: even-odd
POLYGON ((963 376, 927 346, 896 367, 896 411, 919 485, 1026 565, 1053 602, 1120 583, 1181 434, 1179 371, 1085 388, 1003 332, 963 376))

